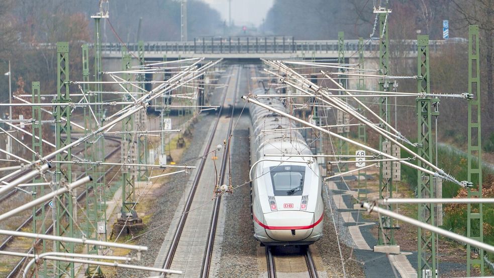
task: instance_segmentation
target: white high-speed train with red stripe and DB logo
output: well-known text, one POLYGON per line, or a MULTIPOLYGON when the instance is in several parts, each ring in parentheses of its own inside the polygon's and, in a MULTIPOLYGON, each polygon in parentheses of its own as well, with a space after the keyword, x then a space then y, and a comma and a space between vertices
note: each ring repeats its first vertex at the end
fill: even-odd
MULTIPOLYGON (((258 89, 253 94, 265 92, 258 89)), ((258 101, 286 111, 277 98, 258 101)), ((293 121, 254 104, 249 110, 252 135, 257 135, 251 138, 249 172, 254 237, 264 245, 312 244, 323 230, 318 163, 312 157, 289 156, 312 154, 300 132, 291 129, 295 128, 293 121), (277 130, 269 131, 273 129, 277 130)))

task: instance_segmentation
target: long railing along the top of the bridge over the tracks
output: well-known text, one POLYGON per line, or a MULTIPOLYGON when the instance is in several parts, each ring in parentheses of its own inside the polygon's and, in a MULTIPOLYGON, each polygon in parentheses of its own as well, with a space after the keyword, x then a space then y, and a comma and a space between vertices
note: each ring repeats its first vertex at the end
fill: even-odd
MULTIPOLYGON (((430 51, 439 51, 446 43, 444 40, 431 40, 430 51)), ((455 43, 455 42, 453 42, 455 43)), ((461 43, 461 42, 460 42, 461 43)), ((391 41, 393 45, 400 45, 401 51, 417 52, 416 40, 391 41)), ((137 43, 127 44, 129 51, 137 51, 137 43)), ((104 53, 120 53, 121 43, 105 43, 102 45, 104 53)), ((243 53, 330 53, 338 51, 336 40, 294 40, 292 37, 231 37, 231 38, 196 38, 193 41, 156 41, 146 42, 144 51, 155 54, 243 54, 243 53)), ((345 51, 356 53, 358 51, 357 40, 345 41, 345 51)), ((368 41, 364 45, 366 52, 378 52, 379 41, 368 41)))

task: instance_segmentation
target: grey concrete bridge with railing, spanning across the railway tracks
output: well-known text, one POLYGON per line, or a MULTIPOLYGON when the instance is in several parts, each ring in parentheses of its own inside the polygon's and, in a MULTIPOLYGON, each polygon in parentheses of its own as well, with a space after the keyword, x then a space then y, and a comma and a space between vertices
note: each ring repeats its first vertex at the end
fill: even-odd
MULTIPOLYGON (((391 41, 391 46, 393 45, 391 41)), ((439 51, 446 43, 443 40, 431 40, 430 51, 439 51)), ((345 57, 358 58, 358 40, 346 40, 345 57)), ((103 58, 121 58, 122 44, 107 43, 102 45, 103 58)), ((129 51, 137 52, 138 44, 127 44, 129 51)), ((378 58, 379 41, 364 41, 364 56, 378 58)), ((400 49, 403 58, 417 57, 417 41, 402 41, 400 49)), ((252 62, 259 58, 266 59, 337 59, 337 40, 295 40, 293 37, 203 37, 193 41, 146 42, 144 55, 148 60, 173 60, 178 58, 206 57, 224 58, 234 62, 252 62)))

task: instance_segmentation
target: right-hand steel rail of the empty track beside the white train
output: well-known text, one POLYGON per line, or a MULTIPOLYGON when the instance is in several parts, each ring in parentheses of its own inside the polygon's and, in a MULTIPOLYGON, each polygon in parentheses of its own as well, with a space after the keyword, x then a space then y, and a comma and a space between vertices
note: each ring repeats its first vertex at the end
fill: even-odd
MULTIPOLYGON (((230 113, 230 122, 228 124, 228 139, 227 143, 225 146, 225 150, 223 151, 223 158, 221 161, 221 170, 220 170, 220 182, 219 184, 223 184, 225 180, 225 175, 226 175, 226 167, 227 167, 227 162, 228 162, 228 156, 230 155, 230 135, 232 134, 232 127, 233 127, 233 116, 235 113, 235 100, 237 98, 237 90, 240 84, 240 76, 241 76, 242 68, 239 67, 237 71, 237 82, 235 84, 235 90, 233 92, 233 104, 232 104, 232 111, 230 113)), ((226 94, 225 94, 226 96, 226 94)), ((216 189, 215 189, 216 190, 216 189)), ((213 213, 211 216, 211 224, 208 232, 208 242, 206 244, 206 251, 203 257, 203 266, 201 269, 201 277, 202 278, 208 278, 209 277, 209 269, 211 267, 211 257, 213 253, 213 247, 214 247, 214 242, 215 242, 215 235, 216 235, 216 227, 218 223, 218 215, 220 213, 220 203, 221 203, 221 195, 218 196, 215 199, 215 203, 213 206, 213 213)))

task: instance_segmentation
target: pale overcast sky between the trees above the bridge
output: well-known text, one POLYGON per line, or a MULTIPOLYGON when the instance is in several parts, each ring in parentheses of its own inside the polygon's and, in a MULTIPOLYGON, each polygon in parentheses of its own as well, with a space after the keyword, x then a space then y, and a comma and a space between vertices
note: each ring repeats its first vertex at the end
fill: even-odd
MULTIPOLYGON (((228 24, 228 0, 203 0, 218 10, 228 24)), ((274 0, 232 0, 232 21, 236 25, 252 23, 259 26, 274 0)))

